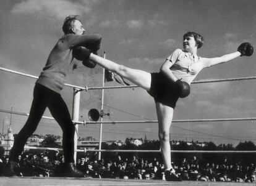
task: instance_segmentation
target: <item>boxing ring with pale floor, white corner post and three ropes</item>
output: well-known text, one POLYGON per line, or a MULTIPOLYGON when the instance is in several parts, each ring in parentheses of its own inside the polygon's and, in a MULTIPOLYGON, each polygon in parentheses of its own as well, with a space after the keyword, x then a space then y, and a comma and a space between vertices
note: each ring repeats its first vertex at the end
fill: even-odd
MULTIPOLYGON (((7 68, 0 67, 1 71, 6 71, 9 73, 14 73, 16 75, 27 76, 29 78, 37 79, 38 76, 29 75, 26 73, 21 73, 14 70, 9 70, 7 68)), ((242 78, 229 78, 229 79, 216 79, 216 80, 201 80, 194 81, 192 84, 200 84, 200 83, 216 83, 216 82, 224 82, 224 81, 242 81, 256 79, 256 76, 250 77, 242 77, 242 78)), ((103 103, 104 103, 104 90, 105 89, 120 89, 120 88, 135 88, 138 86, 105 86, 105 69, 103 68, 103 86, 101 87, 82 87, 75 86, 72 84, 65 84, 65 86, 72 87, 74 89, 74 97, 73 97, 73 110, 72 110, 72 121, 75 124, 75 155, 74 158, 76 160, 77 152, 98 152, 98 160, 101 159, 101 152, 140 152, 140 153, 160 153, 160 150, 104 150, 101 149, 102 142, 102 126, 103 124, 118 124, 118 123, 158 123, 157 120, 153 121, 103 121, 103 103), (100 110, 100 121, 79 121, 79 106, 80 106, 80 92, 81 91, 90 91, 90 90, 101 90, 101 110, 100 110), (100 142, 99 149, 77 149, 77 139, 78 139, 78 131, 79 124, 100 124, 100 142)), ((28 116, 28 113, 23 113, 19 111, 12 110, 3 110, 0 108, 0 112, 2 113, 11 113, 14 115, 22 115, 28 116)), ((49 116, 43 116, 45 119, 54 119, 49 116)), ((218 122, 218 121, 256 121, 256 118, 217 118, 217 119, 174 119, 173 123, 195 123, 195 122, 218 122)), ((38 149, 38 150, 62 150, 62 148, 47 148, 47 147, 29 147, 25 146, 27 149, 38 149)), ((254 151, 201 151, 201 150, 171 150, 171 153, 256 153, 254 151)), ((162 180, 124 180, 124 179, 72 179, 72 178, 55 178, 48 177, 38 178, 38 177, 20 177, 20 178, 7 178, 0 177, 0 185, 15 185, 15 183, 19 182, 19 185, 255 185, 255 183, 234 183, 234 182, 195 182, 195 181, 183 181, 183 182, 165 182, 162 180)))

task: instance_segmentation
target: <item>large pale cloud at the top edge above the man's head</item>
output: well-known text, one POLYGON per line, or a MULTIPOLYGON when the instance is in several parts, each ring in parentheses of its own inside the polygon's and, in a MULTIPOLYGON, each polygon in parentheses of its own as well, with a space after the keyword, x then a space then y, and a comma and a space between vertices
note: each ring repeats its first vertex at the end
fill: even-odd
POLYGON ((67 15, 90 13, 90 6, 87 5, 87 1, 79 3, 67 0, 27 0, 16 4, 11 12, 14 14, 51 15, 52 17, 63 20, 67 15))

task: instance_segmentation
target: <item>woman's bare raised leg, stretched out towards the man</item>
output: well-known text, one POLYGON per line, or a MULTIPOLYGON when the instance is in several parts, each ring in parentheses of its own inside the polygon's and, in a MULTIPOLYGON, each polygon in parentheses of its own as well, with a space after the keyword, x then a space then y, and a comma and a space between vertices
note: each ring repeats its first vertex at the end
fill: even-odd
POLYGON ((117 75, 128 79, 129 81, 136 84, 137 86, 142 87, 147 91, 150 90, 150 84, 151 84, 150 73, 143 70, 128 68, 128 67, 125 67, 124 65, 119 65, 115 62, 112 62, 111 60, 104 59, 95 54, 91 54, 89 59, 92 60, 92 62, 97 63, 101 67, 106 68, 109 71, 113 71, 114 73, 117 73, 117 75))

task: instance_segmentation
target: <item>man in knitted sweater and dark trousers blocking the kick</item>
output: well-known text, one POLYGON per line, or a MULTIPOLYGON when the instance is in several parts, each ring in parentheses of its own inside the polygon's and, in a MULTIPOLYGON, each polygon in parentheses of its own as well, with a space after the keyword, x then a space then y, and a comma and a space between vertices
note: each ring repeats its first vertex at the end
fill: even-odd
POLYGON ((100 49, 101 36, 100 34, 85 34, 82 23, 75 16, 66 17, 62 30, 64 36, 53 47, 46 65, 35 83, 30 115, 15 137, 14 146, 10 152, 10 161, 4 171, 4 176, 15 176, 15 167, 17 167, 15 161, 23 152, 28 137, 35 132, 46 107, 48 107, 63 131, 62 147, 65 163, 61 176, 85 177, 85 174, 78 171, 74 166, 75 126, 60 92, 64 86, 66 75, 69 71, 74 70, 72 48, 85 46, 96 54, 96 51, 100 49))

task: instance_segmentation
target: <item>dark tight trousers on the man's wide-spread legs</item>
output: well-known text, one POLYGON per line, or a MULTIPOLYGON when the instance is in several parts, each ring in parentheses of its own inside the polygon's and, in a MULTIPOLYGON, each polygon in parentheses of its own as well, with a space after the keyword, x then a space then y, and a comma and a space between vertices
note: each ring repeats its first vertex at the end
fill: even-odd
POLYGON ((23 152, 28 137, 35 132, 46 107, 49 108, 51 115, 53 115, 54 119, 59 123, 59 126, 61 126, 63 132, 62 148, 65 162, 74 163, 75 126, 70 118, 67 105, 62 99, 61 94, 41 84, 35 84, 30 114, 27 122, 22 127, 17 137, 15 137, 14 146, 10 153, 10 160, 16 161, 17 157, 23 152))

